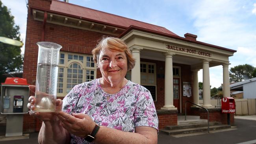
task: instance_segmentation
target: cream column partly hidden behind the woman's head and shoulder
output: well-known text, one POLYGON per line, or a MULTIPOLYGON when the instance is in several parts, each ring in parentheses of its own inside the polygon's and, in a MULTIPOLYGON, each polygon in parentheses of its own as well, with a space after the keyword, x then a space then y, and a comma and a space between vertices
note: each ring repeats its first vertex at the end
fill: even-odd
POLYGON ((134 68, 132 69, 132 74, 131 74, 131 77, 132 77, 132 82, 134 83, 137 83, 137 84, 141 84, 141 69, 140 69, 140 64, 141 64, 141 61, 140 61, 140 50, 142 48, 132 48, 132 55, 135 59, 135 66, 134 68))

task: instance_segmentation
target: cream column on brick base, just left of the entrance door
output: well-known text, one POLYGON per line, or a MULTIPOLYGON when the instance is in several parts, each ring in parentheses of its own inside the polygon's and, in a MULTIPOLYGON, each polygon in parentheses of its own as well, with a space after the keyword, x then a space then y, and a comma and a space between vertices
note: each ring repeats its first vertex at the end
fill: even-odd
POLYGON ((177 109, 173 105, 173 54, 165 53, 165 105, 161 109, 177 109))

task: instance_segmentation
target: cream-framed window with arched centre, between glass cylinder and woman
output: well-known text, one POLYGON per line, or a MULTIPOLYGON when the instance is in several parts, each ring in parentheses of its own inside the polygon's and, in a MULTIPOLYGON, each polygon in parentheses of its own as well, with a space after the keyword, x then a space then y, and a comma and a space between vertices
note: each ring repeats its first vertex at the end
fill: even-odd
POLYGON ((65 96, 75 85, 95 78, 92 55, 60 52, 57 96, 65 96))

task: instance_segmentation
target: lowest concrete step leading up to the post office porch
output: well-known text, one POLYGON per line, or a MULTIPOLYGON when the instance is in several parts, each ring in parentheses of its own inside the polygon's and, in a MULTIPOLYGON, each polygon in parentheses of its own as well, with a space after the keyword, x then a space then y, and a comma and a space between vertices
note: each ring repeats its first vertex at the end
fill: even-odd
MULTIPOLYGON (((230 128, 230 125, 216 125, 216 126, 210 126, 210 131, 217 130, 217 129, 228 129, 230 128)), ((161 129, 161 132, 167 134, 167 135, 180 135, 180 134, 186 134, 186 133, 197 133, 202 131, 208 131, 208 126, 204 127, 193 127, 193 128, 186 128, 186 129, 161 129)))

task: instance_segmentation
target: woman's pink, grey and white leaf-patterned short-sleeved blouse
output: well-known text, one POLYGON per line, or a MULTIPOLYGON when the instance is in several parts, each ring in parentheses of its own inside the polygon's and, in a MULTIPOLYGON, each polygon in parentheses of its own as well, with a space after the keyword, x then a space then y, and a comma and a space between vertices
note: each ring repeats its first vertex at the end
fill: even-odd
MULTIPOLYGON (((104 92, 99 79, 76 85, 63 99, 62 111, 88 114, 99 126, 121 131, 135 132, 137 126, 158 129, 156 108, 149 90, 132 81, 116 94, 104 92)), ((89 142, 71 134, 70 143, 89 142)))

